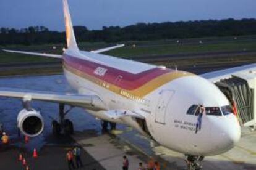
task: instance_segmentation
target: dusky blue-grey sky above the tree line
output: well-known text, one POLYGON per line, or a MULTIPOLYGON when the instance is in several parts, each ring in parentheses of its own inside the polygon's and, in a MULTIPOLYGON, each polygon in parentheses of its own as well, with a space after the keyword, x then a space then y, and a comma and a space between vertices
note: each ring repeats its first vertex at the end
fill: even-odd
MULTIPOLYGON (((90 30, 138 22, 256 18, 256 0, 69 0, 73 25, 90 30)), ((64 31, 62 0, 1 0, 0 27, 64 31)))

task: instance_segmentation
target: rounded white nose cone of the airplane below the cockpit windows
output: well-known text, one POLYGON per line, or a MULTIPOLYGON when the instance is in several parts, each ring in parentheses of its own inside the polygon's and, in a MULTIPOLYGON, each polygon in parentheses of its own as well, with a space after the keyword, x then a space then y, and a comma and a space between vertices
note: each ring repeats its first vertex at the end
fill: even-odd
POLYGON ((216 150, 219 153, 226 152, 234 147, 241 137, 241 127, 233 114, 219 120, 212 128, 213 139, 216 141, 216 150))

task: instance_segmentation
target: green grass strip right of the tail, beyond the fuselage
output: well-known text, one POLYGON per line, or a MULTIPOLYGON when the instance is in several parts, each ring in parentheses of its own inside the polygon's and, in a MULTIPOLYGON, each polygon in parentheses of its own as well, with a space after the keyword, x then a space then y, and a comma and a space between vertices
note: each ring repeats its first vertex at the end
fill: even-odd
POLYGON ((114 51, 106 52, 108 55, 119 57, 134 57, 149 55, 166 55, 166 54, 184 54, 197 52, 220 52, 220 51, 244 51, 255 50, 256 41, 248 42, 220 42, 216 44, 211 43, 195 43, 195 44, 161 44, 155 46, 128 46, 114 51))

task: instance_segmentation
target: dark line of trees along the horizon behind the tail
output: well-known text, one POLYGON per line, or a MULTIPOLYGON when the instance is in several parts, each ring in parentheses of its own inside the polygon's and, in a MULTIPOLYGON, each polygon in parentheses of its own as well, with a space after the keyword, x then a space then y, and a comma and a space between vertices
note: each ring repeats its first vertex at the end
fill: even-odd
MULTIPOLYGON (((255 19, 202 20, 188 22, 137 23, 124 26, 103 26, 101 30, 88 30, 74 26, 79 42, 147 41, 157 39, 201 38, 208 36, 241 36, 256 34, 255 19)), ((0 45, 64 43, 65 33, 51 31, 45 26, 28 28, 0 28, 0 45)))

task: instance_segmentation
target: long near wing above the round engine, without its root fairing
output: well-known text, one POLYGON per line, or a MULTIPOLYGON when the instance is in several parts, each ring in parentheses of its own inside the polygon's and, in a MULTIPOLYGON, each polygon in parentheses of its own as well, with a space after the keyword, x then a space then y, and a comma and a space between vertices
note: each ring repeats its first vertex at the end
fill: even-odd
POLYGON ((22 89, 0 88, 0 97, 14 97, 25 100, 41 100, 46 102, 63 103, 90 110, 105 110, 105 103, 97 95, 58 94, 22 89))

